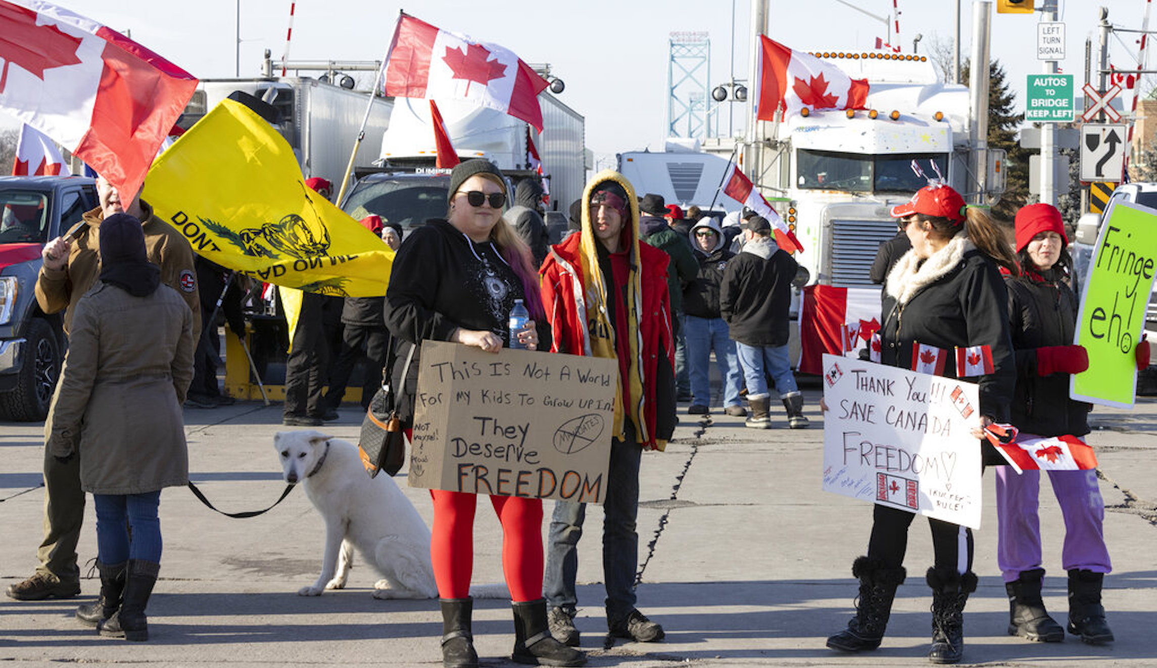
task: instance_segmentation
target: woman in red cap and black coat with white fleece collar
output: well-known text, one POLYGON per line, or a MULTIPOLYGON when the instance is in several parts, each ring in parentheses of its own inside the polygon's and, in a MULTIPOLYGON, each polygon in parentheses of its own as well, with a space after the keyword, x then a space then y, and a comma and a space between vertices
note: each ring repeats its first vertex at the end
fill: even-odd
MULTIPOLYGON (((980 423, 1008 421, 1016 379, 1009 338, 1008 298, 997 266, 1017 273, 1012 249, 983 210, 966 207, 945 185, 929 185, 892 208, 912 250, 887 276, 880 362, 912 368, 918 344, 951 350, 986 345, 993 373, 980 376, 980 423)), ((944 375, 955 377, 955 365, 944 375)), ((980 438, 979 431, 977 432, 980 438)), ((978 445, 979 447, 979 445, 978 445)), ((913 513, 877 504, 868 555, 855 559, 860 580, 856 616, 827 639, 843 652, 879 647, 896 588, 905 579, 904 555, 913 513)), ((964 607, 977 588, 972 572, 972 530, 928 519, 935 550, 926 581, 933 589, 933 644, 928 659, 956 663, 964 654, 964 607)))

